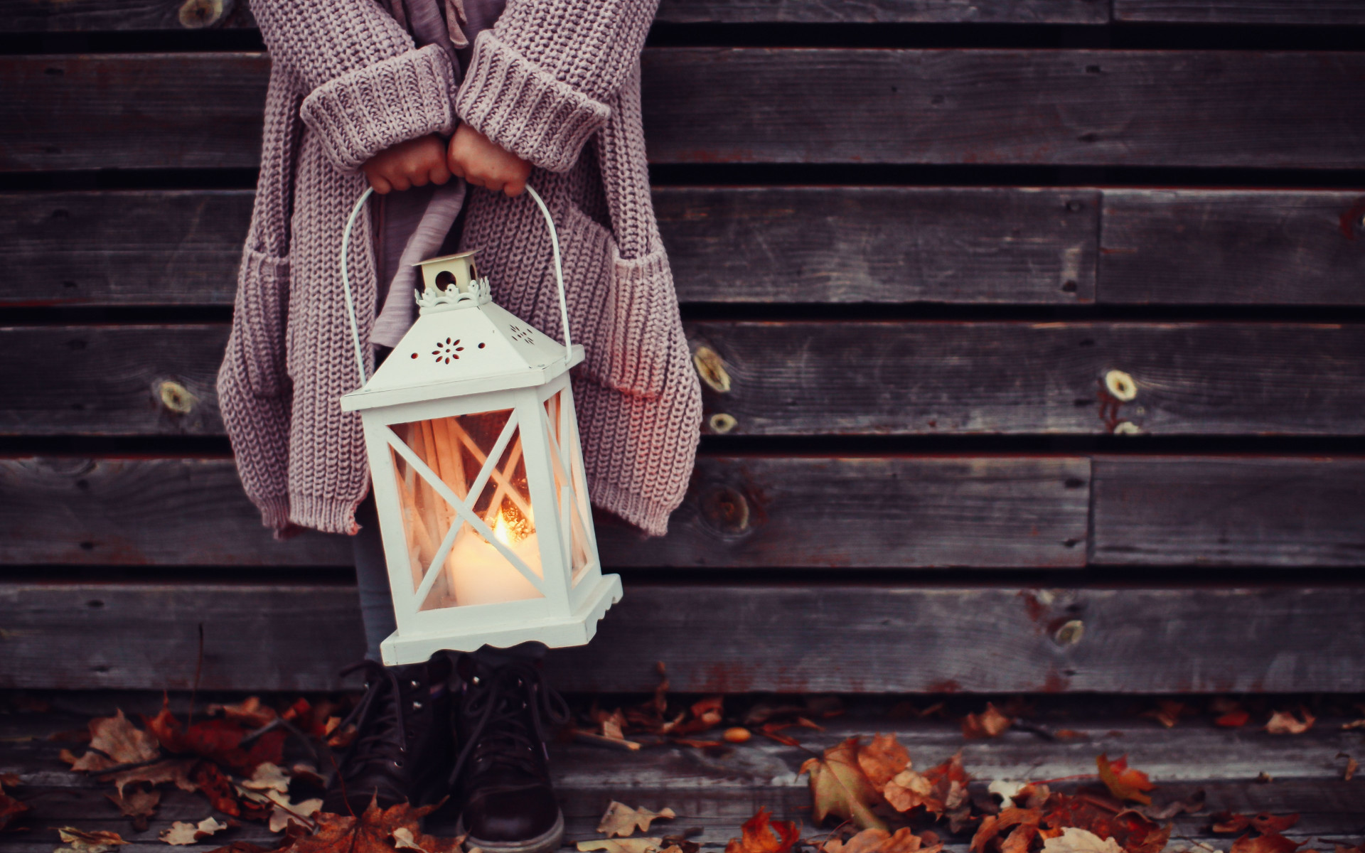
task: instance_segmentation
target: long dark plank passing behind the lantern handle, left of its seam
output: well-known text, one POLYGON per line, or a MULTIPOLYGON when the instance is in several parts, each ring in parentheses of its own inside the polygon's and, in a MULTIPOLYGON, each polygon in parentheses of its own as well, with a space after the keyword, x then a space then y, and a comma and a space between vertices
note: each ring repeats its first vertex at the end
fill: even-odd
MULTIPOLYGON (((232 304, 253 194, 0 194, 0 304, 232 304)), ((1099 192, 657 187, 682 302, 1087 303, 1099 192)))

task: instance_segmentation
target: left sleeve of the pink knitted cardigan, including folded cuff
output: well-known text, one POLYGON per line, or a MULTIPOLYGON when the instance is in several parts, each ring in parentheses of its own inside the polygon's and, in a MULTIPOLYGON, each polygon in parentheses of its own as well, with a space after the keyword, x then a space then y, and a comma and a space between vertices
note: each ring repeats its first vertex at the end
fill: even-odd
POLYGON ((300 117, 351 172, 405 139, 455 128, 455 72, 373 0, 253 0, 270 59, 306 93, 300 117))

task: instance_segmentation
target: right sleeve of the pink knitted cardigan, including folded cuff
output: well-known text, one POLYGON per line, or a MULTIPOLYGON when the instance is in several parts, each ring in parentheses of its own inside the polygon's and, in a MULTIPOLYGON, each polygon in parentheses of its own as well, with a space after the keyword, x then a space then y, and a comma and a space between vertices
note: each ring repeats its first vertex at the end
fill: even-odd
POLYGON ((479 33, 456 112, 541 168, 573 165, 640 59, 658 0, 508 0, 479 33))

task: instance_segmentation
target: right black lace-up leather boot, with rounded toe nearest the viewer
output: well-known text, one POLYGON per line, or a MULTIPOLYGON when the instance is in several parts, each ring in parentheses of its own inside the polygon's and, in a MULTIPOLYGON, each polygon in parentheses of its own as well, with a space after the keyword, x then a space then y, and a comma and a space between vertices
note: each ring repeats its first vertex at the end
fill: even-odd
POLYGON ((543 853, 560 846, 564 815, 546 767, 546 723, 562 725, 569 708, 538 662, 490 666, 470 655, 456 711, 461 744, 453 782, 465 848, 489 853, 543 853))

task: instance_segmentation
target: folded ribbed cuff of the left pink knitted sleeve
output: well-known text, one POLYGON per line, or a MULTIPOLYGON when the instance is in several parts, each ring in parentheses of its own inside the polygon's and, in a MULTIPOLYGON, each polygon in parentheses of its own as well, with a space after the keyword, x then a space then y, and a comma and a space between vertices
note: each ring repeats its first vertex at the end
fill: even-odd
POLYGON ((455 130, 455 72, 440 45, 386 59, 314 89, 300 116, 322 141, 328 158, 359 169, 384 149, 455 130))

